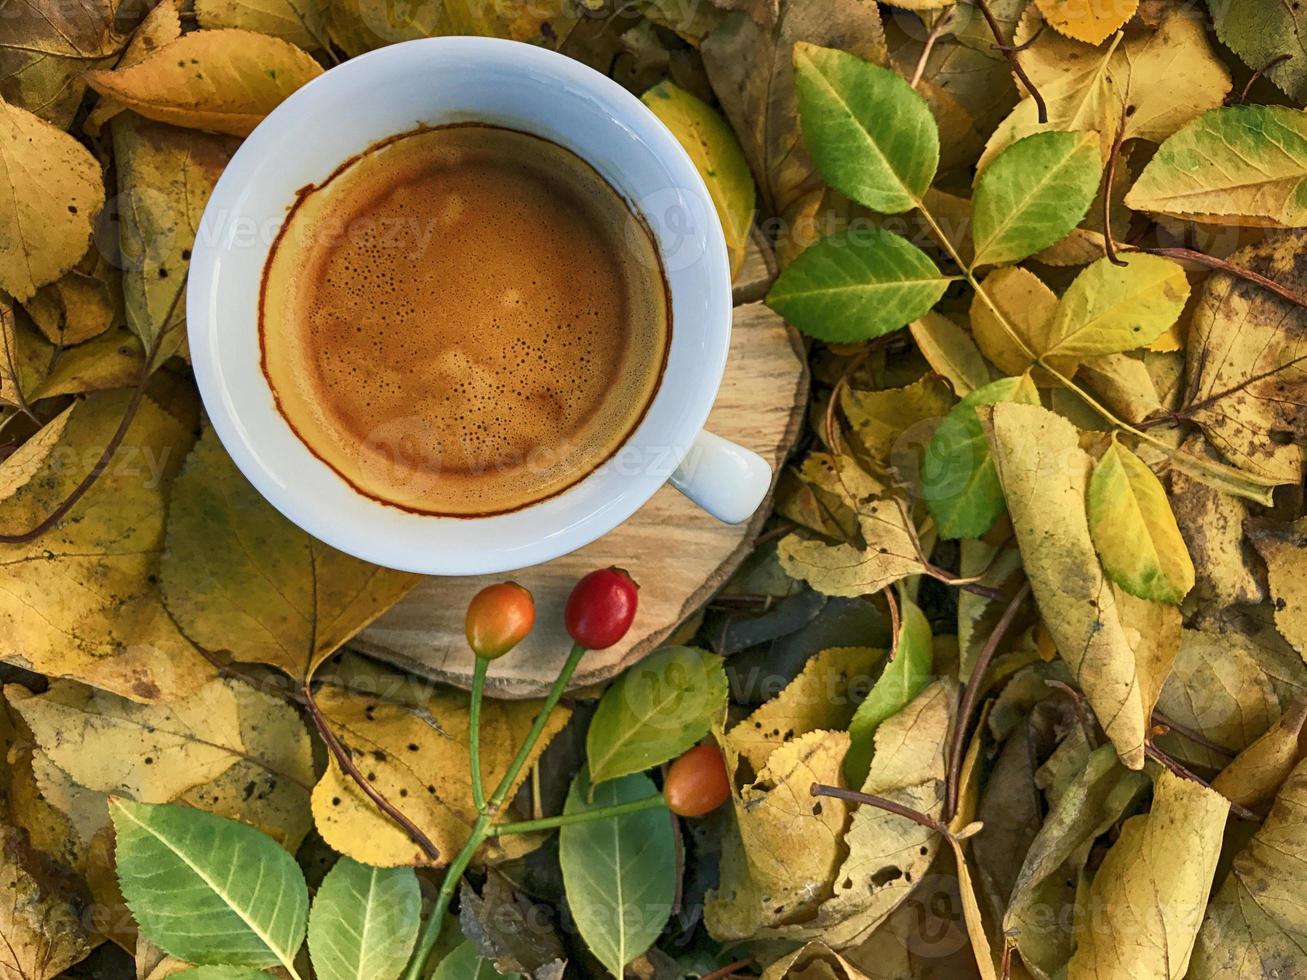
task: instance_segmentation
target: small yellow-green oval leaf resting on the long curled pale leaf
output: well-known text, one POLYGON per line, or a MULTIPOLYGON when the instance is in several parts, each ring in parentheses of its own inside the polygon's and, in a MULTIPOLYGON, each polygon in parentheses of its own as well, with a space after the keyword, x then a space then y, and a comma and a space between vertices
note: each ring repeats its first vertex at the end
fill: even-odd
POLYGON ((1193 562, 1161 481, 1114 442, 1089 481, 1089 532, 1103 571, 1132 596, 1179 602, 1193 588, 1193 562))

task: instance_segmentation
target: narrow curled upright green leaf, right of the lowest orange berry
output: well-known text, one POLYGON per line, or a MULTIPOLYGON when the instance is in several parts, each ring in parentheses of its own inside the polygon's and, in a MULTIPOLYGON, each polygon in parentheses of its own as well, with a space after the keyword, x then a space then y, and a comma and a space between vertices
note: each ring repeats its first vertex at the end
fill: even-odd
POLYGON ((850 746, 844 755, 844 780, 851 787, 861 787, 872 763, 876 729, 906 708, 931 681, 935 666, 935 638, 931 623, 899 589, 898 648, 894 660, 885 665, 867 700, 857 706, 848 724, 850 746))

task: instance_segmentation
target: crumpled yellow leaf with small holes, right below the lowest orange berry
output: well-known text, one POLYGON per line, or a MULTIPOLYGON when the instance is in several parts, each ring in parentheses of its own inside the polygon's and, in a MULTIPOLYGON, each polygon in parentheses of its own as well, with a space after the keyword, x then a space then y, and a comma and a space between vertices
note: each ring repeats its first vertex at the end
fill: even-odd
MULTIPOLYGON (((757 779, 735 796, 738 836, 727 834, 721 875, 704 904, 719 941, 812 934, 802 923, 830 892, 848 804, 814 800, 813 783, 839 784, 844 732, 809 732, 771 753, 757 779)), ((728 766, 728 770, 733 768, 728 766)))

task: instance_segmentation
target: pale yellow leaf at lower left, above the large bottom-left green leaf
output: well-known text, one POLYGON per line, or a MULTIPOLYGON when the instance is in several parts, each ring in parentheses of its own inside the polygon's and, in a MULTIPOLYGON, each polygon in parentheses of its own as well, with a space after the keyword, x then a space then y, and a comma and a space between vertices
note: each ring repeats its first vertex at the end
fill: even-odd
POLYGON ((222 681, 167 704, 137 704, 71 681, 34 695, 5 687, 37 743, 80 785, 165 804, 217 779, 244 751, 235 695, 222 681))

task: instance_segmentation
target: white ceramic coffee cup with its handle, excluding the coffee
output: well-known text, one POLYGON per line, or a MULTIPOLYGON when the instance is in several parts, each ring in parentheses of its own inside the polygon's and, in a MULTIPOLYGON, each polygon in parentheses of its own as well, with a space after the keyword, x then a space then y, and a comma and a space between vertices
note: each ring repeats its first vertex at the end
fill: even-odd
POLYGON ((552 51, 455 37, 352 59, 299 89, 255 129, 205 208, 187 321, 209 421, 277 510, 378 564, 478 575, 574 551, 631 516, 664 482, 723 521, 742 521, 758 508, 771 483, 769 464, 703 430, 725 368, 731 306, 725 242, 708 191, 639 99, 552 51), (657 242, 672 297, 672 344, 643 421, 597 470, 519 511, 438 517, 361 495, 301 442, 260 367, 259 290, 297 191, 379 140, 464 122, 553 140, 627 199, 657 242))

